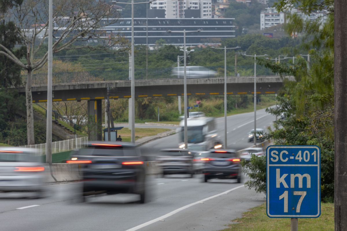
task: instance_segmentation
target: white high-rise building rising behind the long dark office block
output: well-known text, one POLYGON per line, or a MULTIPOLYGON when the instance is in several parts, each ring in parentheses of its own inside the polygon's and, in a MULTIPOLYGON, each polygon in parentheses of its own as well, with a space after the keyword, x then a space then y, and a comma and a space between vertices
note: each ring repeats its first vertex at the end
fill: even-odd
POLYGON ((156 0, 150 10, 149 17, 161 10, 165 18, 212 18, 212 0, 156 0))

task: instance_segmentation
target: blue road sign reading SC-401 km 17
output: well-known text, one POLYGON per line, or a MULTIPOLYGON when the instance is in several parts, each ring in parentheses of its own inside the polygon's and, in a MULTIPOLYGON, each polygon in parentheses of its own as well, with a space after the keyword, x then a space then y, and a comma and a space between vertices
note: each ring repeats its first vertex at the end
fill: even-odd
POLYGON ((269 146, 266 149, 266 214, 315 218, 321 215, 318 146, 269 146))

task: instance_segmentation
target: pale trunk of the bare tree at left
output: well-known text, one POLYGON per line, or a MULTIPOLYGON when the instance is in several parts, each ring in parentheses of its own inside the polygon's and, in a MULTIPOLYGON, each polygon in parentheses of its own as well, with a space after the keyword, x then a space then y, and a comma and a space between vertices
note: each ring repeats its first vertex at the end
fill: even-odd
POLYGON ((25 86, 26 96, 26 130, 28 145, 35 144, 34 138, 34 112, 33 112, 33 96, 31 94, 32 71, 28 70, 28 76, 25 86))

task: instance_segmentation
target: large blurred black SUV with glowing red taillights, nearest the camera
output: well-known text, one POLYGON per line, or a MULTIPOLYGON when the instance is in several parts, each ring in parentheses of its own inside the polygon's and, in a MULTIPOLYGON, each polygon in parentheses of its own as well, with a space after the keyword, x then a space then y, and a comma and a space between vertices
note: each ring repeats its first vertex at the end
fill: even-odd
POLYGON ((83 201, 93 194, 134 193, 145 203, 146 162, 135 144, 90 142, 76 150, 67 163, 82 164, 83 201))

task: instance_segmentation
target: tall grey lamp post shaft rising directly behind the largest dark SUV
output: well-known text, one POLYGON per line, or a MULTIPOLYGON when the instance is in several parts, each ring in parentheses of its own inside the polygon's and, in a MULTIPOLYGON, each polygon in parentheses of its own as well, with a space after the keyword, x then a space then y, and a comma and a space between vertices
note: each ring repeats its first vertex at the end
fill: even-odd
POLYGON ((135 142, 135 57, 134 57, 134 0, 131 1, 131 142, 135 142))

